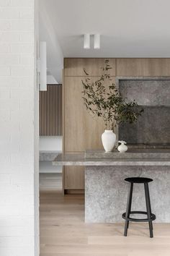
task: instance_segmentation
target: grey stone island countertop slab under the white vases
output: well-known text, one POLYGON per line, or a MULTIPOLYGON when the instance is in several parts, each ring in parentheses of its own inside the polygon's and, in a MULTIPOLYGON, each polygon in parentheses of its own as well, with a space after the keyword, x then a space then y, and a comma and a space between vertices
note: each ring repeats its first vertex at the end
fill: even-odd
POLYGON ((130 149, 126 153, 86 150, 61 153, 53 166, 170 166, 169 149, 130 149))

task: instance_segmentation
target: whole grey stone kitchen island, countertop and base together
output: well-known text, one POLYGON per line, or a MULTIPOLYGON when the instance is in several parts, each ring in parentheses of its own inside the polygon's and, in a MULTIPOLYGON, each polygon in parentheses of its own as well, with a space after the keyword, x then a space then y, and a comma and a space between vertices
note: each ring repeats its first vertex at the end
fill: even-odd
MULTIPOLYGON (((147 176, 152 211, 156 222, 170 222, 170 150, 134 149, 127 153, 63 153, 54 166, 85 166, 85 221, 90 223, 122 222, 130 176, 147 176)), ((132 210, 145 210, 143 184, 134 186, 132 210)))

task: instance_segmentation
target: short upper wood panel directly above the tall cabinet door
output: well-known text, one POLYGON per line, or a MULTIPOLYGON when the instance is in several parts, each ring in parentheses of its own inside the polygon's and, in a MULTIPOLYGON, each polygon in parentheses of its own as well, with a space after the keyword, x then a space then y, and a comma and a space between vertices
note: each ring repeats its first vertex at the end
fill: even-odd
MULTIPOLYGON (((84 69, 90 76, 99 76, 102 74, 101 67, 104 66, 104 58, 84 58, 84 59, 64 59, 65 76, 86 76, 84 69)), ((109 59, 109 64, 112 66, 110 75, 115 77, 115 59, 109 59)))

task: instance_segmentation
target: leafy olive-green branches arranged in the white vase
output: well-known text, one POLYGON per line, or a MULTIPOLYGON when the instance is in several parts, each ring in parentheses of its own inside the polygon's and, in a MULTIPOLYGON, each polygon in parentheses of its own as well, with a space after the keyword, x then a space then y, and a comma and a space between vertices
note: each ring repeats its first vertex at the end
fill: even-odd
POLYGON ((103 74, 95 82, 89 78, 89 74, 84 69, 86 79, 81 80, 83 85, 82 98, 86 110, 93 116, 100 116, 104 120, 105 128, 114 130, 117 124, 128 122, 133 124, 143 109, 136 108, 138 103, 135 101, 126 102, 118 92, 112 81, 109 69, 109 60, 104 61, 101 68, 103 74))

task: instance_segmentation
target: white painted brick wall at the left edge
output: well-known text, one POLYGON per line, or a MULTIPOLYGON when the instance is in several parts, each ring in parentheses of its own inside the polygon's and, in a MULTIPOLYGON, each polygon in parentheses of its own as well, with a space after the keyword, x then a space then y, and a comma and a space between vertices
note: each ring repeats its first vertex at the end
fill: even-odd
POLYGON ((39 255, 35 6, 0 0, 1 256, 39 255))

